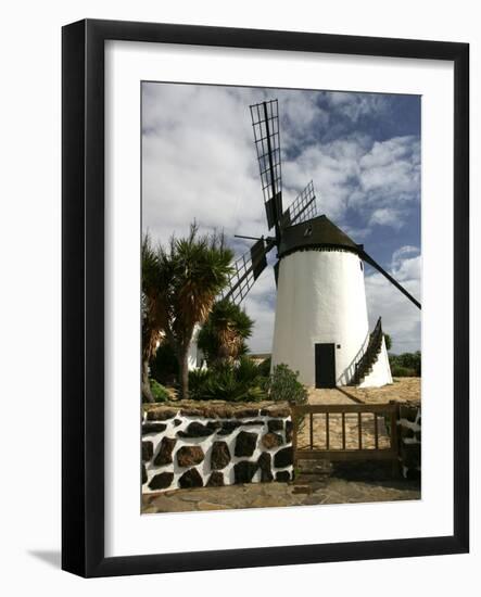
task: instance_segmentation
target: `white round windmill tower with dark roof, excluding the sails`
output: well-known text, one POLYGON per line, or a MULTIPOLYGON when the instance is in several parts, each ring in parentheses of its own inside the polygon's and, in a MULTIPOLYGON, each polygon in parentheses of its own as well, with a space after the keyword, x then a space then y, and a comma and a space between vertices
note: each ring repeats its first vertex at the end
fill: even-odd
POLYGON ((392 383, 382 331, 369 333, 360 251, 326 216, 283 231, 273 367, 284 363, 316 388, 392 383), (370 363, 356 376, 369 345, 370 363))

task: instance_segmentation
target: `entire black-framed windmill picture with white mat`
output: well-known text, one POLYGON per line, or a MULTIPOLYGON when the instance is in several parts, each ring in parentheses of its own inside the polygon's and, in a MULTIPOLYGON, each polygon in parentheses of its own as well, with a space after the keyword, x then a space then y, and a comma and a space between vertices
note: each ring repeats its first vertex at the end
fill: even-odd
POLYGON ((83 576, 469 549, 469 47, 63 28, 83 576))

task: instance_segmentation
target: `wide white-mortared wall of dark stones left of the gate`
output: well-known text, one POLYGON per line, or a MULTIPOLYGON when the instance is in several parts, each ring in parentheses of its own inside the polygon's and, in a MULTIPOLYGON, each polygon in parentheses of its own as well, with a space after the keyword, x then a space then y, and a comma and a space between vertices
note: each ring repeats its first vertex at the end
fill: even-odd
POLYGON ((152 406, 142 414, 142 492, 290 481, 288 405, 152 406))

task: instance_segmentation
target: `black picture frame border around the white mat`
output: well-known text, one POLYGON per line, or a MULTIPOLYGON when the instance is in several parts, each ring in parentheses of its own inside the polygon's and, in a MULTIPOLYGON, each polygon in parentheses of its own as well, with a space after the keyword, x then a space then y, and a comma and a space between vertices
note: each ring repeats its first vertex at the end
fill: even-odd
POLYGON ((113 576, 461 554, 469 549, 469 46, 80 21, 62 31, 62 568, 113 576), (104 556, 104 42, 147 41, 454 64, 454 533, 337 544, 104 556))

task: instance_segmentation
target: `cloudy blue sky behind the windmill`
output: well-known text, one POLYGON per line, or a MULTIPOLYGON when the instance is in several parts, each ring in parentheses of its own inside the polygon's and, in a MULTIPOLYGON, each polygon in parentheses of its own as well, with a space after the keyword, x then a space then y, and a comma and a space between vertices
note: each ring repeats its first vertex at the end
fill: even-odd
MULTIPOLYGON (((249 106, 278 99, 286 209, 314 181, 326 214, 421 298, 420 97, 168 82, 142 84, 142 229, 154 242, 224 230, 236 257, 267 234, 249 106)), ((275 252, 269 262, 275 259, 275 252)), ((382 316, 392 353, 420 350, 420 312, 365 268, 369 325, 382 316)), ((276 285, 264 270, 242 305, 252 352, 270 352, 276 285)))

